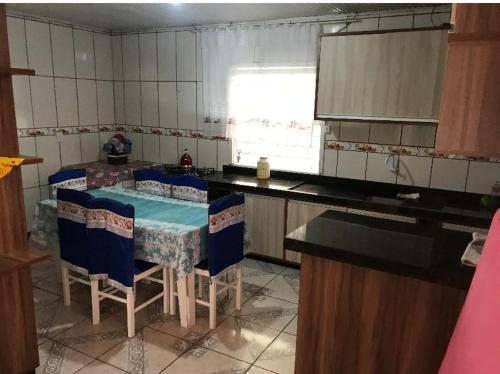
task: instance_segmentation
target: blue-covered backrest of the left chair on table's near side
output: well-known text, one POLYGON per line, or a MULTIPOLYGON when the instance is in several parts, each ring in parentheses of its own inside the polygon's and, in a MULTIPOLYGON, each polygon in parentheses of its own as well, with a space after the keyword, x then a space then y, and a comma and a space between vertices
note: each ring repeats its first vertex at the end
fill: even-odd
POLYGON ((87 213, 92 196, 83 191, 57 190, 57 226, 61 259, 80 273, 88 271, 87 213))

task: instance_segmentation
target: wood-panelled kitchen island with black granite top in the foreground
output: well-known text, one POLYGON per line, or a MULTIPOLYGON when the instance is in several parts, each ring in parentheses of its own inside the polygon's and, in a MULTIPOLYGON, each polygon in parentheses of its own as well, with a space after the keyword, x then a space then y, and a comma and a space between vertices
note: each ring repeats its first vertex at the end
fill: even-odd
POLYGON ((470 234, 328 211, 302 253, 295 373, 437 373, 473 271, 470 234))

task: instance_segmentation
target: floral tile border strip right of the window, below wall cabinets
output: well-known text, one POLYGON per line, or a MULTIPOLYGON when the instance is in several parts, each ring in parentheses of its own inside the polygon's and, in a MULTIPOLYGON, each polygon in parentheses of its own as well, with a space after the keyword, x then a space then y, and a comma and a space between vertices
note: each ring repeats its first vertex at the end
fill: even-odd
POLYGON ((402 156, 448 158, 448 159, 454 159, 454 160, 500 162, 500 158, 467 157, 467 156, 456 155, 456 154, 439 153, 439 152, 436 152, 436 150, 434 148, 414 147, 414 146, 404 146, 404 145, 387 145, 387 144, 374 144, 374 143, 351 143, 351 142, 326 141, 325 142, 325 151, 328 151, 328 150, 354 151, 354 152, 367 152, 367 153, 384 153, 384 154, 396 154, 396 155, 402 155, 402 156))

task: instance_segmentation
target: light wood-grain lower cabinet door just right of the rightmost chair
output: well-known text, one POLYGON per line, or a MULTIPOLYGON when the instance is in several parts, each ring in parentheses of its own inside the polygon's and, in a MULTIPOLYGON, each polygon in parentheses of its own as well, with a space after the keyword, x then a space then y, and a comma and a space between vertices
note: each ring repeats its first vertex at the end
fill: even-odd
POLYGON ((245 194, 250 252, 283 259, 285 200, 245 194))

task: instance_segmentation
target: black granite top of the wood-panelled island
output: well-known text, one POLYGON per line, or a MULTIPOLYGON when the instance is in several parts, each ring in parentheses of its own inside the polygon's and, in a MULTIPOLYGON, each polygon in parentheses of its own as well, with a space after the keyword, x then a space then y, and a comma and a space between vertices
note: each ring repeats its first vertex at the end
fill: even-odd
POLYGON ((467 289, 470 233, 327 211, 285 237, 288 250, 467 289))

